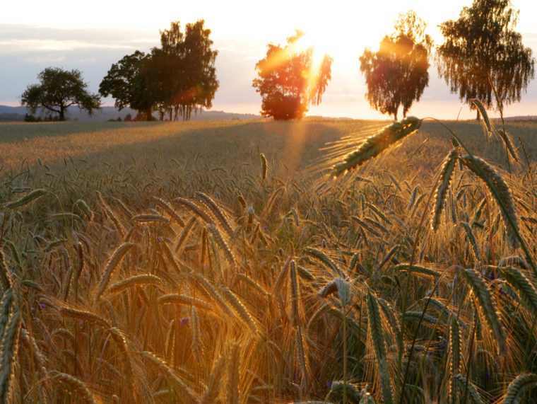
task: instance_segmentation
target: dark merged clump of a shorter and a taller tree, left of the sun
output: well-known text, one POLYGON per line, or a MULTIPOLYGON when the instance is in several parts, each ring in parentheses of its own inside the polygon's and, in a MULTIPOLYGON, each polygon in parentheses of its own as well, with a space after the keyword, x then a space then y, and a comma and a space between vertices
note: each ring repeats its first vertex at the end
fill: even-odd
POLYGON ((189 120, 198 108, 211 108, 218 89, 217 50, 212 50, 211 30, 204 21, 187 24, 184 33, 179 21, 160 31, 160 47, 150 54, 136 51, 112 64, 101 82, 100 93, 112 95, 116 106, 130 106, 151 119, 151 111, 172 120, 189 120))

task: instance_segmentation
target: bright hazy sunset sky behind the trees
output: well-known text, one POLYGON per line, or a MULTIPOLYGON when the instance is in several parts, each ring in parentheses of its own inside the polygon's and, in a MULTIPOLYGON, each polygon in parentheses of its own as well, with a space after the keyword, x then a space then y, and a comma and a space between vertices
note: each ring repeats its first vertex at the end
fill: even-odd
MULTIPOLYGON (((520 10, 517 31, 537 56, 537 1, 512 0, 520 10)), ((428 24, 435 44, 442 42, 437 25, 456 19, 471 0, 401 1, 157 1, 139 6, 131 1, 101 1, 47 6, 42 1, 8 1, 0 14, 0 104, 20 105, 20 94, 45 67, 79 69, 90 91, 97 92, 112 63, 135 50, 159 45, 159 30, 171 21, 182 26, 203 18, 210 28, 220 88, 214 110, 259 112, 261 97, 252 88, 256 62, 269 42, 284 43, 295 28, 304 30, 318 47, 334 57, 332 80, 319 107, 309 115, 357 118, 386 117, 364 98, 365 82, 358 57, 364 47, 378 49, 401 11, 413 9, 428 24), (79 6, 79 4, 83 4, 79 6)), ((112 104, 113 100, 105 100, 112 104)), ((458 96, 430 69, 429 87, 411 115, 454 119, 461 109, 458 96)), ((537 115, 537 80, 521 103, 506 115, 537 115)), ((461 117, 473 117, 467 106, 461 117)))

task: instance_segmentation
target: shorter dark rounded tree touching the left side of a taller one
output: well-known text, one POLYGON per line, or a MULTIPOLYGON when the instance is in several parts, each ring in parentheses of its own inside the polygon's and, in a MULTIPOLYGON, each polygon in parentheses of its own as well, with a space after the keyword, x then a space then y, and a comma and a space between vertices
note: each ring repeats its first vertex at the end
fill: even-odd
POLYGON ((112 64, 99 85, 103 97, 112 96, 114 105, 122 110, 130 107, 138 111, 145 120, 151 120, 155 96, 148 89, 148 78, 144 74, 151 56, 140 51, 125 55, 112 64))

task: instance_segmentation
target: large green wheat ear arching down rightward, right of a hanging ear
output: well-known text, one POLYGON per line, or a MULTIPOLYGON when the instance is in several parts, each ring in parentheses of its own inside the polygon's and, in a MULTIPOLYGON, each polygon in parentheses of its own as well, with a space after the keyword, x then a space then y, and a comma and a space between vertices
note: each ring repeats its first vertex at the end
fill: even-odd
POLYGON ((492 195, 494 195, 496 201, 500 204, 500 212, 502 212, 502 219, 507 230, 509 244, 511 244, 512 248, 518 248, 520 243, 517 237, 519 233, 517 214, 514 210, 511 191, 502 176, 490 164, 479 157, 463 156, 461 157, 461 161, 487 184, 490 192, 492 192, 492 195))

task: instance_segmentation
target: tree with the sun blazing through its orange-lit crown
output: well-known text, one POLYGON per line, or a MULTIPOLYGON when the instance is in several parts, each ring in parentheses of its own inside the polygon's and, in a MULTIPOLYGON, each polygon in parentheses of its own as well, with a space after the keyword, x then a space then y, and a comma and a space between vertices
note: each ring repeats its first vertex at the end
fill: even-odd
POLYGON ((299 50, 304 33, 296 31, 287 45, 268 44, 266 57, 256 63, 259 79, 252 86, 261 93, 261 115, 275 120, 301 119, 309 105, 319 105, 331 79, 334 59, 324 55, 314 63, 314 48, 299 50))

